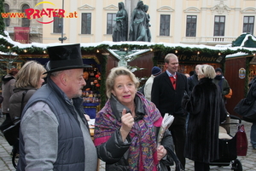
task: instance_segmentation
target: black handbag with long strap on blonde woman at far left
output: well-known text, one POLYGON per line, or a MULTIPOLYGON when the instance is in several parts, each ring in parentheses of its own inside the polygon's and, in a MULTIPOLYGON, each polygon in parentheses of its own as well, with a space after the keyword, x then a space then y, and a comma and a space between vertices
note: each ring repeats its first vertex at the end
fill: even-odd
MULTIPOLYGON (((27 90, 22 93, 20 116, 23 110, 23 100, 27 90)), ((3 136, 8 141, 9 145, 15 145, 17 140, 19 140, 20 132, 20 117, 15 117, 14 122, 9 128, 3 130, 3 136)))

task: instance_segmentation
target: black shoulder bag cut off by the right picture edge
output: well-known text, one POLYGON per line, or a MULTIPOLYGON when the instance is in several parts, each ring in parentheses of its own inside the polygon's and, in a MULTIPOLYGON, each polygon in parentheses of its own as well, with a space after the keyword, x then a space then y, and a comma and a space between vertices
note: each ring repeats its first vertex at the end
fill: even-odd
POLYGON ((240 100, 234 108, 234 111, 241 115, 243 120, 250 123, 256 122, 256 100, 253 98, 253 83, 248 91, 247 97, 240 100))

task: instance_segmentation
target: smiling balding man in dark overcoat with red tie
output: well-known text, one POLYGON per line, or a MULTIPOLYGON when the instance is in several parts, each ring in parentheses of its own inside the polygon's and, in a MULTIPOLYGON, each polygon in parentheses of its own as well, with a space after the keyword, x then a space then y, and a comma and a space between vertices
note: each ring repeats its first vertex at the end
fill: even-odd
POLYGON ((151 100, 163 117, 166 113, 174 116, 174 121, 169 129, 172 133, 176 155, 185 168, 186 160, 183 152, 187 114, 183 111, 181 101, 183 95, 188 92, 188 79, 182 73, 177 72, 178 59, 175 54, 166 55, 165 66, 166 71, 154 77, 151 100))

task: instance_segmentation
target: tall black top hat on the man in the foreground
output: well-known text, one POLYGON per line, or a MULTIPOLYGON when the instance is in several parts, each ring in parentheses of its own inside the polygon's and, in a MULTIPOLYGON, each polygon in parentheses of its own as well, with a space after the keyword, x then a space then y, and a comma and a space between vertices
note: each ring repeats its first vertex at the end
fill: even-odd
POLYGON ((91 67, 83 63, 80 44, 48 47, 49 62, 45 73, 91 67))

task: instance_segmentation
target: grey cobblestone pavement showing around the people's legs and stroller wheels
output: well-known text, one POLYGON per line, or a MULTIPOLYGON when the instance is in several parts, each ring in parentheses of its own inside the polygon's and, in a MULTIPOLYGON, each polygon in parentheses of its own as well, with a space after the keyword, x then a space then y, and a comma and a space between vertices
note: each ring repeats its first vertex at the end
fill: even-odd
MULTIPOLYGON (((4 117, 0 117, 0 124, 3 123, 4 117)), ((248 140, 248 150, 247 150, 247 156, 246 157, 237 157, 238 160, 240 160, 242 164, 242 168, 244 171, 255 171, 256 170, 256 150, 253 150, 252 145, 250 143, 250 129, 252 123, 247 123, 245 121, 242 121, 241 124, 245 125, 245 129, 247 132, 247 140, 248 140)), ((235 135, 236 134, 237 125, 231 125, 230 126, 230 134, 235 135)), ((1 171, 15 171, 15 168, 12 165, 10 152, 12 151, 12 146, 8 144, 8 142, 4 139, 3 134, 0 133, 0 170, 1 171)), ((230 170, 230 166, 224 166, 224 167, 218 167, 218 166, 211 166, 211 170, 215 171, 224 171, 224 170, 230 170)), ((105 166, 104 162, 100 162, 100 168, 99 171, 104 171, 105 166)), ((174 167, 172 167, 172 170, 175 170, 174 167)), ((186 160, 186 171, 193 171, 194 170, 194 162, 190 161, 189 159, 186 160)))

